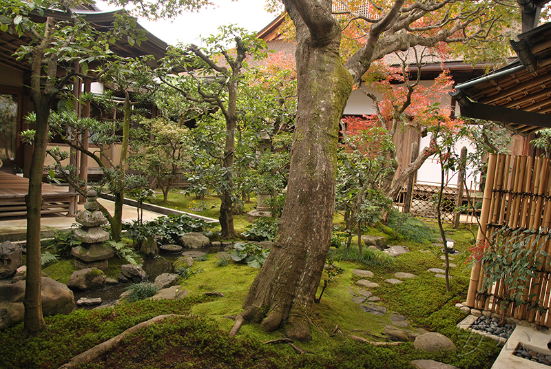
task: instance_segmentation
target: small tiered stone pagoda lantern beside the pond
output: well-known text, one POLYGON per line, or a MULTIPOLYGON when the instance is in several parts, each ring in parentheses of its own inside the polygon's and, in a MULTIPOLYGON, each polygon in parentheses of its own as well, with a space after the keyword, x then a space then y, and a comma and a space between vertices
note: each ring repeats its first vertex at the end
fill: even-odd
POLYGON ((107 218, 99 210, 96 191, 88 191, 86 198, 85 210, 75 218, 81 228, 74 230, 74 237, 82 244, 71 250, 75 257, 74 265, 79 269, 98 268, 106 271, 107 259, 114 255, 112 249, 103 245, 104 241, 109 240, 109 233, 101 228, 103 224, 107 224, 107 218))

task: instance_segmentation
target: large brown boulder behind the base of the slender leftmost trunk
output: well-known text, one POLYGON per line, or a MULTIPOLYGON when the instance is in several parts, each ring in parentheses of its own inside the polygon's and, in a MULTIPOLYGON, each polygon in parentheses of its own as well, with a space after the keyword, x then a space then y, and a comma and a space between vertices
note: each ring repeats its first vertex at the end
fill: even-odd
MULTIPOLYGON (((75 307, 74 295, 65 284, 48 277, 41 282, 42 313, 44 316, 69 314, 75 307)), ((25 281, 0 285, 0 329, 23 321, 25 281)))

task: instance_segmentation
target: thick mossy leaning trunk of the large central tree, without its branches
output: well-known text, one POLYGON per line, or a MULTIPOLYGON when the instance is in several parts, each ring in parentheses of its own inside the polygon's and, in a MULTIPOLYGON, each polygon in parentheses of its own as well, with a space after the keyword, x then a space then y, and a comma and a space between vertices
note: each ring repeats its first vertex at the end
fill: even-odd
POLYGON ((310 339, 309 314, 331 242, 339 121, 352 78, 339 55, 340 26, 329 16, 322 25, 329 27, 329 37, 316 38, 298 10, 284 2, 298 41, 298 117, 289 185, 274 246, 241 317, 262 319, 269 331, 286 324, 292 339, 310 339))

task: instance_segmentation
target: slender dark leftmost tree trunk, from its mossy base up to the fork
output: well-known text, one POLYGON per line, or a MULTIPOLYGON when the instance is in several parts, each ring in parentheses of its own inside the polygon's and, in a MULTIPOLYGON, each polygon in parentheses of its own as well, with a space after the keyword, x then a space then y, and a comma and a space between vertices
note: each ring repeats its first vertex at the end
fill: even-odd
POLYGON ((42 208, 42 169, 48 143, 48 117, 50 98, 33 101, 37 114, 36 134, 29 171, 29 191, 27 203, 27 277, 25 282, 25 317, 23 327, 31 336, 37 336, 45 327, 41 299, 41 249, 40 216, 42 208))

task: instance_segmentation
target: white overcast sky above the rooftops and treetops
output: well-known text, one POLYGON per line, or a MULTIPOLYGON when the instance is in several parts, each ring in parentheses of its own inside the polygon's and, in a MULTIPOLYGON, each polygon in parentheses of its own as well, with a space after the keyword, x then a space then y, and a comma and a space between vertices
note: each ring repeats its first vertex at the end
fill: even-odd
MULTIPOLYGON (((178 42, 199 43, 199 36, 218 33, 218 26, 236 24, 250 32, 258 32, 266 27, 276 14, 264 10, 263 0, 213 0, 216 7, 205 8, 199 12, 186 13, 174 20, 147 21, 138 19, 143 28, 159 39, 175 45, 178 42)), ((101 10, 113 10, 103 1, 96 5, 101 10)))

